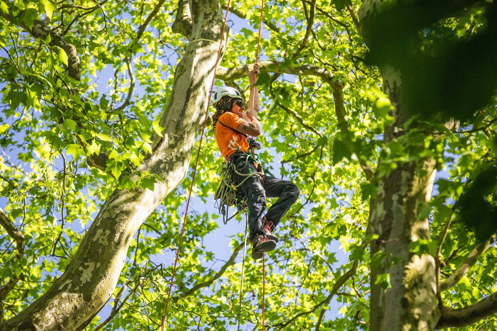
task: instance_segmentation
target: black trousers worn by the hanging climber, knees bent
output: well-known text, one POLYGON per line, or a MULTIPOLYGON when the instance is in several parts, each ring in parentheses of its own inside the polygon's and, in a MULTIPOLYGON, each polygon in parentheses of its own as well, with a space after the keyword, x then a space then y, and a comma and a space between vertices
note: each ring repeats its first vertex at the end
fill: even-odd
MULTIPOLYGON (((238 172, 243 174, 257 172, 257 167, 248 160, 247 154, 236 154, 233 157, 238 172)), ((236 184, 238 185, 246 178, 247 176, 244 175, 235 175, 236 184)), ((292 204, 297 201, 300 194, 299 188, 293 182, 267 174, 262 182, 258 176, 249 177, 239 189, 247 197, 250 241, 257 235, 264 235, 262 218, 266 211, 266 197, 278 198, 265 214, 267 221, 273 223, 271 227, 271 231, 273 231, 292 204)))

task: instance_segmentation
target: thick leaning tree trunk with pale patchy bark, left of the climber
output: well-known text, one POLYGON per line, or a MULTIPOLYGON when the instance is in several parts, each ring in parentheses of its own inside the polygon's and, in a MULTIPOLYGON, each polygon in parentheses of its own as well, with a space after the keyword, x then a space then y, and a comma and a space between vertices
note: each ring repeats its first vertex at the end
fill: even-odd
POLYGON ((161 119, 164 138, 156 140, 153 155, 142 165, 142 170, 163 180, 153 191, 115 190, 64 274, 0 330, 83 330, 110 298, 133 235, 184 178, 204 119, 223 24, 219 1, 192 0, 190 4, 191 43, 176 69, 161 119))

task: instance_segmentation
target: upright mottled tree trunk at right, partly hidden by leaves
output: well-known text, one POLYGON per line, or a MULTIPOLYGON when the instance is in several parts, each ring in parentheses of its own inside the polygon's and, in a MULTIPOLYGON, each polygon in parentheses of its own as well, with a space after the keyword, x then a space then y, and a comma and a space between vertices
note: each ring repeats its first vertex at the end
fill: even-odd
MULTIPOLYGON (((359 11, 366 43, 381 2, 366 0, 359 11)), ((374 37, 378 40, 381 36, 374 37)), ((401 74, 388 63, 380 70, 394 106, 394 124, 385 128, 388 146, 389 142, 402 141, 399 138, 409 132, 405 128, 409 115, 401 74)), ((384 161, 388 160, 379 163, 384 161)), ((426 253, 411 252, 414 242, 429 240, 428 220, 418 215, 430 200, 434 175, 433 159, 399 162, 388 174, 376 173, 377 189, 368 224, 369 234, 378 235, 371 242, 370 330, 434 330, 440 317, 434 259, 426 253)))

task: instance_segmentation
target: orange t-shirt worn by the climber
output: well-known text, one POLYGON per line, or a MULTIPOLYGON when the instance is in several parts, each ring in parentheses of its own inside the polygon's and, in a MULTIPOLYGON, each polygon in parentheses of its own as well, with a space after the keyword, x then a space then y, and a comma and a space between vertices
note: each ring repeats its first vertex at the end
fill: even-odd
POLYGON ((247 137, 243 133, 236 131, 242 121, 238 115, 230 112, 226 112, 219 117, 216 124, 216 140, 225 159, 228 159, 239 148, 240 151, 248 152, 247 137))

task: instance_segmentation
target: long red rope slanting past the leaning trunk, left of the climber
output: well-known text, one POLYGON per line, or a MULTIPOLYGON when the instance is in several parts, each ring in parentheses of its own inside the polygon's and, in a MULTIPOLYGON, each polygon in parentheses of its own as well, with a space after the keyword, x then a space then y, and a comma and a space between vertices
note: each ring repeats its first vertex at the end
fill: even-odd
POLYGON ((188 200, 186 202, 185 216, 183 218, 183 225, 181 226, 181 234, 179 235, 178 248, 176 249, 176 258, 174 259, 174 266, 172 267, 171 281, 170 281, 170 284, 169 284, 169 291, 167 292, 166 308, 164 309, 164 315, 162 317, 161 331, 164 331, 164 322, 166 321, 167 307, 169 305, 169 298, 171 296, 172 282, 174 280, 174 275, 176 273, 176 265, 178 263, 179 247, 181 245, 181 240, 183 239, 183 233, 184 233, 185 224, 186 224, 186 216, 188 214, 188 206, 190 205, 191 192, 193 190, 193 181, 195 180, 195 174, 197 172, 198 159, 200 157, 200 147, 202 146, 202 140, 204 138, 204 131, 205 131, 205 123, 207 122, 207 116, 209 114, 209 105, 211 103, 211 94, 212 94, 212 90, 214 89, 214 82, 216 80, 216 71, 217 71, 217 67, 218 67, 218 64, 219 64, 219 58, 221 57, 221 48, 223 46, 223 37, 224 37, 224 31, 225 31, 225 28, 226 28, 226 21, 228 19, 228 11, 230 10, 230 1, 231 0, 228 0, 228 5, 227 5, 227 8, 226 8, 226 15, 225 15, 224 24, 223 24, 223 32, 221 32, 221 41, 219 42, 219 50, 218 50, 218 55, 217 55, 217 58, 216 58, 216 65, 214 66, 214 75, 212 76, 211 89, 209 91, 209 98, 207 100, 207 109, 205 110, 204 124, 203 124, 203 127, 202 127, 202 135, 200 136, 200 142, 199 142, 198 151, 197 151, 197 158, 195 160, 195 167, 193 168, 193 176, 191 178, 191 185, 190 185, 190 192, 188 193, 188 200))

